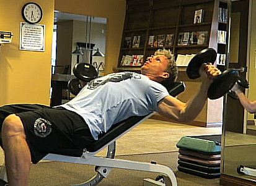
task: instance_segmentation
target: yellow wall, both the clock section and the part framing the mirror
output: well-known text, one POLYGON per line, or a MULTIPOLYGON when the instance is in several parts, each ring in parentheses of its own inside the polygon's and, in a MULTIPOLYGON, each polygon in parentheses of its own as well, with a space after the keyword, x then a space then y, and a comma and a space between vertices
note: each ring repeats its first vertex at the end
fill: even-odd
POLYGON ((1 46, 0 105, 50 103, 54 10, 107 18, 106 74, 117 66, 125 20, 125 0, 34 0, 43 9, 40 24, 46 25, 45 52, 19 50, 20 22, 24 22, 21 10, 27 2, 30 1, 1 0, 4 6, 0 6, 0 31, 10 31, 14 36, 12 43, 1 46))

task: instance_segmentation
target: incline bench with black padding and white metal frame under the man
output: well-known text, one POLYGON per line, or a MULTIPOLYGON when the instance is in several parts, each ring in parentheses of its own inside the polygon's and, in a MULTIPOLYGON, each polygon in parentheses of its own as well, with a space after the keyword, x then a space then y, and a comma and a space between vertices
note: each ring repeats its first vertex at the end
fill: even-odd
MULTIPOLYGON (((179 93, 185 90, 185 85, 183 82, 174 82, 169 88, 170 95, 177 96, 179 93)), ((129 132, 131 129, 135 128, 137 125, 141 124, 144 120, 148 119, 154 114, 154 112, 146 116, 133 116, 122 122, 113 125, 113 127, 99 136, 99 140, 92 143, 90 146, 84 150, 81 157, 64 156, 60 154, 48 154, 45 156, 45 160, 50 161, 60 161, 66 163, 76 163, 76 164, 87 164, 94 165, 96 174, 82 184, 71 185, 71 186, 92 186, 99 184, 104 178, 110 174, 112 168, 120 169, 130 169, 136 171, 148 171, 148 172, 158 172, 164 175, 166 185, 177 185, 177 179, 174 172, 170 167, 161 164, 152 163, 142 163, 135 161, 127 161, 123 159, 115 158, 115 141, 123 136, 125 133, 129 132), (99 151, 103 150, 108 146, 106 158, 95 156, 99 151)), ((0 171, 0 179, 7 181, 5 167, 2 166, 0 171)))

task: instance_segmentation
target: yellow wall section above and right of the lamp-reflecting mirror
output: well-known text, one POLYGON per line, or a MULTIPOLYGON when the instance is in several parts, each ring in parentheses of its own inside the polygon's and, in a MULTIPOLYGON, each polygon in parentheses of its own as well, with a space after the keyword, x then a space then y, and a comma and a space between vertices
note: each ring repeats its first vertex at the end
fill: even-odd
POLYGON ((125 8, 125 0, 55 0, 56 11, 107 18, 105 74, 117 67, 125 8))

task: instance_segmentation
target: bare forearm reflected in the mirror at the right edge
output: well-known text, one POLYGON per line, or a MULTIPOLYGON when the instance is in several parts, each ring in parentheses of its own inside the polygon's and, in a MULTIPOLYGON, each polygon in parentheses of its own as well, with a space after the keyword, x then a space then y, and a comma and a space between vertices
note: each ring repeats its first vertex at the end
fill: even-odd
POLYGON ((256 113, 256 101, 250 101, 250 99, 248 99, 241 91, 241 88, 239 88, 239 85, 237 85, 237 83, 232 88, 232 91, 236 93, 240 103, 248 112, 256 113))

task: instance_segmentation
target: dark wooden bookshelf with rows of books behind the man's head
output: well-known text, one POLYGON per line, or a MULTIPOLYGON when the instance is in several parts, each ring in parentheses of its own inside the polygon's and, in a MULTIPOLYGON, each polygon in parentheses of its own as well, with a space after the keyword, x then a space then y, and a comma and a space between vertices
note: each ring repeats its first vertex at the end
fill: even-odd
POLYGON ((125 56, 133 60, 133 56, 140 55, 144 61, 159 48, 170 49, 175 57, 196 54, 209 47, 215 48, 218 53, 226 53, 227 47, 217 42, 216 35, 218 30, 227 30, 225 16, 229 0, 126 2, 127 11, 117 67, 123 67, 125 56), (196 17, 198 15, 199 22, 196 17), (140 36, 139 48, 133 48, 135 36, 140 36), (169 44, 166 44, 167 36, 169 44))

